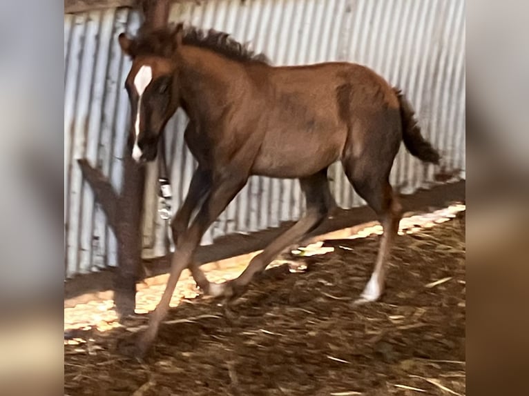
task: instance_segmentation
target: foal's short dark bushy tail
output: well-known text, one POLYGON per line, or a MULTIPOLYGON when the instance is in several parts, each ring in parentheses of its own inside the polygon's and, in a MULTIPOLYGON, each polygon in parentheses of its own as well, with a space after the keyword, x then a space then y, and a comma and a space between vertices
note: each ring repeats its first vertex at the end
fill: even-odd
POLYGON ((401 90, 397 88, 393 88, 393 90, 397 95, 398 103, 401 107, 404 146, 411 155, 421 159, 421 161, 431 162, 436 165, 439 164, 441 156, 432 147, 432 144, 421 135, 421 128, 417 125, 410 101, 406 99, 401 90))

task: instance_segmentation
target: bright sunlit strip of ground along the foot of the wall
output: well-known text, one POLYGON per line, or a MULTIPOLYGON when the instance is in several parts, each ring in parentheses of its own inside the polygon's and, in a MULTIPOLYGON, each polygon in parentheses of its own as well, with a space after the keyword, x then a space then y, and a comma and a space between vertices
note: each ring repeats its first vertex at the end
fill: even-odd
MULTIPOLYGON (((456 217, 456 214, 465 210, 465 205, 455 204, 448 208, 436 210, 434 212, 425 213, 421 215, 414 215, 404 217, 399 225, 399 235, 412 234, 420 232, 425 228, 432 228, 436 224, 442 224, 456 217)), ((380 235, 382 233, 382 226, 376 224, 374 226, 367 226, 362 230, 351 235, 347 239, 358 239, 369 237, 370 235, 380 235)), ((343 246, 342 246, 343 248, 343 246)), ((318 241, 314 244, 293 250, 294 256, 311 257, 316 255, 324 255, 334 251, 333 247, 323 246, 323 241, 318 241)), ((274 261, 269 268, 279 266, 283 261, 274 261)), ((241 262, 238 266, 231 266, 224 270, 210 270, 206 274, 210 281, 221 282, 228 279, 238 277, 240 273, 246 268, 247 262, 241 262)), ((291 272, 303 272, 306 269, 305 264, 291 264, 291 272)), ((149 286, 138 290, 136 297, 136 313, 148 313, 156 307, 165 286, 163 284, 149 286)), ((199 295, 195 287, 195 282, 191 278, 182 279, 178 282, 173 298, 171 299, 171 306, 178 306, 183 299, 193 299, 199 295)), ((113 309, 113 301, 90 301, 87 304, 79 304, 73 308, 64 309, 64 330, 71 329, 85 329, 95 328, 98 331, 110 330, 111 328, 119 327, 117 315, 113 309)), ((79 339, 65 340, 65 344, 78 344, 79 339)))

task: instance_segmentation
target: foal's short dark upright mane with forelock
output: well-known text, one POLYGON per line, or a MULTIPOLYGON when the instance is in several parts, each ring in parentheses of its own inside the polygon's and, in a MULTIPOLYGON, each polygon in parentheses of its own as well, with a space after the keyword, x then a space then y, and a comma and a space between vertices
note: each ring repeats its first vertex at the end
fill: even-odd
POLYGON ((265 55, 256 54, 249 50, 247 46, 239 43, 227 33, 213 29, 205 31, 194 26, 184 26, 183 23, 148 32, 140 32, 135 40, 137 54, 171 57, 175 50, 174 37, 177 30, 182 30, 182 43, 186 45, 206 48, 224 55, 224 57, 243 63, 270 63, 265 55))

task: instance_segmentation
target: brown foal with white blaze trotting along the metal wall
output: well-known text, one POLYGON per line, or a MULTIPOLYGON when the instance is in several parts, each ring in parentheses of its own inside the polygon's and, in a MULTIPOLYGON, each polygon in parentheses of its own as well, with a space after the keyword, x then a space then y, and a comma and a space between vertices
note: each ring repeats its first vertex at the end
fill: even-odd
POLYGON ((327 168, 335 161, 341 161, 354 189, 383 226, 374 270, 358 301, 381 296, 385 261, 401 219, 389 184, 401 141, 415 157, 439 163, 439 154, 421 136, 400 91, 353 63, 274 67, 264 56, 212 30, 177 25, 134 39, 120 34, 119 43, 133 59, 126 79, 133 157, 155 159, 164 126, 181 107, 189 117, 185 141, 198 161, 189 193, 171 223, 176 244, 171 273, 137 344, 139 355, 153 343, 184 268, 204 293, 235 297, 276 255, 314 230, 334 204, 327 168), (193 253, 250 175, 299 179, 307 210, 240 277, 211 284, 193 264, 193 253))

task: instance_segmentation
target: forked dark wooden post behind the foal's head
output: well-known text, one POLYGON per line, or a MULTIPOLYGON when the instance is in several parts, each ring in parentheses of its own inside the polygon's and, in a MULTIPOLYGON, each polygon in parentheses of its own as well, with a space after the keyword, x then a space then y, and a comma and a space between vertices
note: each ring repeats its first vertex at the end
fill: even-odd
MULTIPOLYGON (((144 12, 142 29, 166 26, 169 0, 143 0, 141 8, 144 12)), ((123 158, 124 181, 120 194, 102 172, 90 166, 86 159, 79 160, 81 172, 93 189, 117 238, 118 266, 113 276, 113 286, 115 308, 120 319, 133 315, 135 310, 136 283, 142 260, 141 223, 145 181, 144 167, 133 161, 128 145, 125 145, 123 158)))

